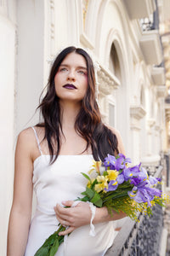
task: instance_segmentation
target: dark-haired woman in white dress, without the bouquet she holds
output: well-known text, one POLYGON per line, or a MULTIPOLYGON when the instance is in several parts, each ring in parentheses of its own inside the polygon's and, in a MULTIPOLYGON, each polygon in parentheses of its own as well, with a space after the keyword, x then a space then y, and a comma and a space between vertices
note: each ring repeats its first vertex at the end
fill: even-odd
MULTIPOLYGON (((39 106, 43 122, 21 131, 15 151, 14 201, 8 226, 8 256, 32 256, 57 230, 68 237, 65 256, 104 255, 114 239, 113 222, 125 217, 105 207, 94 216, 96 236, 89 236, 88 203, 71 207, 81 196, 94 160, 124 154, 119 132, 101 121, 95 100, 94 64, 88 53, 68 47, 56 57, 39 106), (31 220, 32 189, 37 211, 31 220), (65 208, 65 207, 67 208, 65 208), (31 222, 31 226, 30 226, 31 222)), ((56 256, 64 255, 64 244, 56 256)))

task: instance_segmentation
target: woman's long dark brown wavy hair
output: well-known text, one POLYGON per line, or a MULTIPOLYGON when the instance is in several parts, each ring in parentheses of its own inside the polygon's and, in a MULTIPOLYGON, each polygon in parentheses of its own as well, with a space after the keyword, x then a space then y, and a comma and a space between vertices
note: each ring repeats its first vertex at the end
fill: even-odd
POLYGON ((63 134, 60 120, 61 109, 59 108, 59 97, 55 92, 54 77, 58 72, 61 62, 65 59, 65 56, 72 52, 82 55, 87 62, 88 68, 88 89, 82 99, 82 107, 77 114, 75 130, 77 134, 86 140, 87 147, 85 150, 91 146, 94 160, 103 161, 107 154, 118 154, 116 135, 101 121, 98 104, 95 100, 93 61, 85 50, 71 46, 63 49, 56 57, 51 67, 47 87, 45 88, 45 90, 47 90, 46 94, 43 96, 42 100, 40 100, 38 106, 42 114, 43 123, 39 123, 37 126, 44 127, 45 129, 43 139, 47 139, 48 142, 51 164, 54 163, 59 155, 61 134, 63 134))

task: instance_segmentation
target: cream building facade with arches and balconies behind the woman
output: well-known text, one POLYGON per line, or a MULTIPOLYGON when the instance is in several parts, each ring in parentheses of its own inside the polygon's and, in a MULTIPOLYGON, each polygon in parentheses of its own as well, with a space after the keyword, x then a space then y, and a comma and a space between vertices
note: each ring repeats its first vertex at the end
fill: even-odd
POLYGON ((168 145, 157 19, 168 20, 167 9, 168 0, 0 1, 1 255, 13 195, 14 145, 21 130, 38 122, 35 109, 59 49, 76 45, 93 52, 103 120, 121 132, 134 164, 159 166, 168 145))

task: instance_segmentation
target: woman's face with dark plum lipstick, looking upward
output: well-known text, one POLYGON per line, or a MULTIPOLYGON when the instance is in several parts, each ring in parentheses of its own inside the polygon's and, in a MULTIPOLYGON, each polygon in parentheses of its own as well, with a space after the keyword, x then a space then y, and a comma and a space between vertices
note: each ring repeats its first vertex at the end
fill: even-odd
POLYGON ((56 95, 60 101, 81 102, 88 88, 88 70, 82 55, 66 55, 54 77, 56 95))

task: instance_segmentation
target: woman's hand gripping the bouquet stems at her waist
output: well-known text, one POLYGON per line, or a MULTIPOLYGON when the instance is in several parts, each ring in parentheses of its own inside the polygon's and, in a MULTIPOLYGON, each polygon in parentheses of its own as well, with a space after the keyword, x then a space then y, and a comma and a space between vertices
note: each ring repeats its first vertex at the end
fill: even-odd
POLYGON ((59 233, 59 236, 65 236, 76 230, 78 227, 90 224, 90 219, 92 212, 87 202, 79 202, 76 207, 71 207, 74 201, 62 201, 65 207, 59 206, 59 204, 54 207, 59 223, 69 228, 63 232, 59 233))

